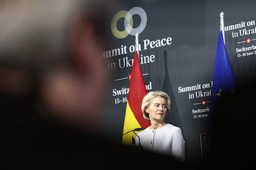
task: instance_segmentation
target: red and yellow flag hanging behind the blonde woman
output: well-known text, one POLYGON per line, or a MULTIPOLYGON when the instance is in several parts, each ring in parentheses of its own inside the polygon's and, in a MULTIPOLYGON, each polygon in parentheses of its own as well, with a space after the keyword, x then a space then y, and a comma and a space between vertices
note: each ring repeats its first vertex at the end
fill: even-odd
POLYGON ((127 97, 126 115, 124 117, 124 127, 122 133, 122 144, 124 145, 135 144, 136 134, 132 132, 133 129, 139 127, 146 128, 150 125, 150 122, 143 118, 142 110, 140 108, 142 99, 144 95, 147 94, 147 89, 145 86, 142 69, 140 68, 137 51, 135 51, 134 54, 134 62, 130 75, 129 94, 127 97))

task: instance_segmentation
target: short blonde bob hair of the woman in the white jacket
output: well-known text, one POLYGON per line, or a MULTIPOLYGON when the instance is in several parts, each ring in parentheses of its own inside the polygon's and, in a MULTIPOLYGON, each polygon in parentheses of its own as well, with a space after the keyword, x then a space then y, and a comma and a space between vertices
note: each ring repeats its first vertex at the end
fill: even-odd
POLYGON ((145 119, 147 119, 148 121, 150 121, 149 115, 148 113, 146 113, 146 109, 150 106, 150 103, 152 102, 153 99, 155 99, 156 97, 163 97, 166 100, 166 105, 167 105, 167 113, 169 112, 170 108, 171 108, 171 99, 169 97, 168 94, 166 94, 166 92, 163 91, 151 91, 148 92, 142 99, 142 113, 143 113, 143 117, 145 119))

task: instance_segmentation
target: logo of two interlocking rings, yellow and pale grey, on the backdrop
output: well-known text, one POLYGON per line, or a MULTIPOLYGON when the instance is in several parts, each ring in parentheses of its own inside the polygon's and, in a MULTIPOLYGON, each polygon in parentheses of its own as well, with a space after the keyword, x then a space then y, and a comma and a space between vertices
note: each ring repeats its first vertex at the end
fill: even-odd
POLYGON ((111 22, 111 31, 116 36, 116 38, 122 39, 126 38, 126 36, 135 35, 136 33, 142 33, 142 31, 145 29, 147 25, 147 14, 145 10, 143 10, 141 7, 133 7, 129 11, 126 10, 120 10, 119 12, 114 15, 112 22, 111 22), (132 15, 139 15, 140 16, 140 25, 137 28, 133 28, 134 20, 132 18, 132 15), (119 31, 117 29, 117 22, 119 19, 124 18, 124 28, 125 30, 119 31))

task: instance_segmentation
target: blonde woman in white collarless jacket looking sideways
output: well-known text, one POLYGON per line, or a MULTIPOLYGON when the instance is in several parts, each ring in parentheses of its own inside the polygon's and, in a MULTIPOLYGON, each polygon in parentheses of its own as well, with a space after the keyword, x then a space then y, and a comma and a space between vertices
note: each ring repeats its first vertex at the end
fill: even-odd
POLYGON ((184 161, 185 142, 181 128, 165 121, 171 109, 169 95, 163 91, 148 92, 143 97, 141 109, 143 117, 150 121, 150 126, 137 134, 135 144, 184 161))

